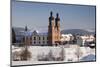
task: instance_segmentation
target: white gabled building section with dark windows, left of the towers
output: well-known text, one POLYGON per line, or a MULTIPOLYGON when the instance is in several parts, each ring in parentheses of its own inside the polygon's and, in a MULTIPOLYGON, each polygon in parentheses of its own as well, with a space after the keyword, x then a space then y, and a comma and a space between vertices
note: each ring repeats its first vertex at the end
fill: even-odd
POLYGON ((32 45, 47 45, 48 44, 48 36, 47 33, 39 33, 38 31, 34 31, 32 33, 32 45))

